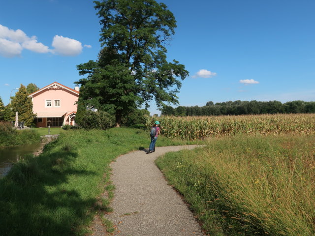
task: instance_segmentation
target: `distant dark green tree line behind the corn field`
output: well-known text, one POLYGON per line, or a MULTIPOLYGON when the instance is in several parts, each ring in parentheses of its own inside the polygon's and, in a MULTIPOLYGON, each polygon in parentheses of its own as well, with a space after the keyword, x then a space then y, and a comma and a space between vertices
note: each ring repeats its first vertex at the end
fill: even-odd
POLYGON ((213 103, 209 101, 205 106, 173 108, 165 106, 161 110, 162 115, 168 116, 221 116, 221 115, 258 115, 279 113, 315 113, 315 102, 291 101, 281 103, 279 101, 228 101, 213 103))

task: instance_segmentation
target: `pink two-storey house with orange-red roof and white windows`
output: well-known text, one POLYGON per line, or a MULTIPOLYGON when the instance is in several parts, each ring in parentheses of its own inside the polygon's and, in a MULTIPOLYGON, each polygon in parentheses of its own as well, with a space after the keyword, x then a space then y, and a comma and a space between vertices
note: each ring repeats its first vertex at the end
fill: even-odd
POLYGON ((33 113, 36 114, 36 127, 63 126, 75 124, 75 114, 79 98, 79 87, 70 89, 54 82, 29 95, 33 102, 33 113))

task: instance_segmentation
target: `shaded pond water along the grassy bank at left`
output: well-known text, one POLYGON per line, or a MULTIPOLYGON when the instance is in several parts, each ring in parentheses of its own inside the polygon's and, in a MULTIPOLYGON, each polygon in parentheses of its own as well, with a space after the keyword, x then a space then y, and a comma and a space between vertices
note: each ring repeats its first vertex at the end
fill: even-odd
POLYGON ((45 143, 21 145, 17 147, 0 148, 0 178, 4 177, 11 167, 12 162, 17 162, 26 154, 35 154, 45 143))

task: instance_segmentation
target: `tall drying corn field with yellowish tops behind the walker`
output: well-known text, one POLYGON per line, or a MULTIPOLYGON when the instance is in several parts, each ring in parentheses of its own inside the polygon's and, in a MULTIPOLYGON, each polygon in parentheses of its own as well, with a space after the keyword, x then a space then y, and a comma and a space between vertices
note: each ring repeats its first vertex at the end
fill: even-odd
POLYGON ((211 117, 162 116, 158 120, 166 137, 199 140, 234 134, 315 134, 315 114, 277 114, 211 117))

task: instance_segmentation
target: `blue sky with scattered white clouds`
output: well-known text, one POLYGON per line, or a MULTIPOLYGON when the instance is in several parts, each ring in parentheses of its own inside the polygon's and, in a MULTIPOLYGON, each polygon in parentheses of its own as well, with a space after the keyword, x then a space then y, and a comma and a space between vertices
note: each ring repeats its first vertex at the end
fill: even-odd
MULTIPOLYGON (((158 0, 177 28, 167 59, 189 71, 180 106, 208 101, 315 101, 314 0, 158 0)), ((14 0, 0 6, 0 97, 20 84, 74 88, 76 65, 97 59, 92 0, 14 0)), ((176 107, 177 105, 173 105, 176 107)), ((160 114, 154 102, 151 115, 160 114)))

